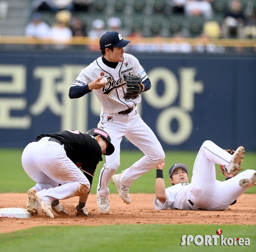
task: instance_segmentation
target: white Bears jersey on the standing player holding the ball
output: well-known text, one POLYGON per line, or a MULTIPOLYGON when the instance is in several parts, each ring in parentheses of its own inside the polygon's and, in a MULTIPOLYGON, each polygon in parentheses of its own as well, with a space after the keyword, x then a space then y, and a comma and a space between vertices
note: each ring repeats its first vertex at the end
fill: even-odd
POLYGON ((107 78, 108 82, 102 89, 94 89, 93 92, 101 102, 101 111, 106 114, 113 114, 131 108, 141 101, 141 97, 136 99, 124 99, 126 92, 126 82, 123 75, 139 76, 142 82, 146 80, 147 74, 140 65, 138 59, 133 55, 124 53, 124 61, 118 62, 115 69, 106 66, 99 57, 89 66, 82 70, 72 86, 82 86, 91 83, 100 76, 107 78))

